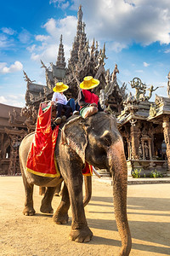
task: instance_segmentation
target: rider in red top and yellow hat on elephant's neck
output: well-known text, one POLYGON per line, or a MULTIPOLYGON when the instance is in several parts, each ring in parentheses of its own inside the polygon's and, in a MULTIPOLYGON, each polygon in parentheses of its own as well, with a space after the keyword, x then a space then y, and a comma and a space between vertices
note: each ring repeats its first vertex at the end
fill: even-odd
POLYGON ((98 111, 104 111, 99 104, 99 96, 94 94, 94 87, 99 85, 99 80, 92 76, 85 77, 80 84, 82 90, 78 94, 78 104, 80 105, 80 114, 83 118, 93 115, 98 111))

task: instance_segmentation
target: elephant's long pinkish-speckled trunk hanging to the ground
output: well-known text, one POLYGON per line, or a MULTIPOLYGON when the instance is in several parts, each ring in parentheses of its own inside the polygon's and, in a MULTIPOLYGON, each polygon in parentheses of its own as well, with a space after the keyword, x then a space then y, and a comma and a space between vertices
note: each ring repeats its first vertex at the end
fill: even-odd
POLYGON ((129 255, 132 240, 127 222, 127 162, 122 138, 111 146, 108 153, 109 165, 113 173, 113 199, 116 225, 122 240, 120 255, 129 255))

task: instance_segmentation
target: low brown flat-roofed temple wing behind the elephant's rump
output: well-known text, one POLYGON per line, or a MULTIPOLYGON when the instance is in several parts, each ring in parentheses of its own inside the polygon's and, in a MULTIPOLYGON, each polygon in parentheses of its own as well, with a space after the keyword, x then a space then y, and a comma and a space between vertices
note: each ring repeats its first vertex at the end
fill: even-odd
POLYGON ((27 134, 21 108, 0 103, 0 175, 19 175, 19 146, 27 134))

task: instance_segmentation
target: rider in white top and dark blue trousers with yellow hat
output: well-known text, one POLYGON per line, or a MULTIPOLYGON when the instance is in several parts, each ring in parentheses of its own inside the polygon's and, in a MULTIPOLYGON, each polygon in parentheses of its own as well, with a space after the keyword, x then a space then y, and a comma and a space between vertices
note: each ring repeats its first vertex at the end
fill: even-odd
POLYGON ((62 122, 65 122, 66 119, 68 119, 71 116, 71 113, 79 113, 76 110, 76 105, 74 99, 69 99, 67 101, 66 96, 63 94, 65 90, 68 90, 69 86, 66 84, 63 84, 62 82, 57 83, 54 86, 54 94, 52 97, 51 105, 56 105, 57 110, 57 116, 54 120, 54 123, 56 125, 59 125, 62 122), (61 117, 62 109, 65 110, 65 115, 61 117))

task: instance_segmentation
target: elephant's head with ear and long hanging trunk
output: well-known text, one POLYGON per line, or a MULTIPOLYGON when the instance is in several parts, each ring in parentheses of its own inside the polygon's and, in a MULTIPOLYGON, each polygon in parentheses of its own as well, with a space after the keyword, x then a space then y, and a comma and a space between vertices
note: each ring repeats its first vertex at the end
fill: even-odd
POLYGON ((121 255, 128 255, 132 241, 127 223, 127 163, 116 120, 107 113, 71 119, 62 129, 62 143, 77 154, 82 164, 87 161, 111 173, 116 225, 122 239, 121 255))

